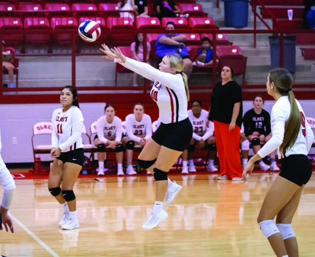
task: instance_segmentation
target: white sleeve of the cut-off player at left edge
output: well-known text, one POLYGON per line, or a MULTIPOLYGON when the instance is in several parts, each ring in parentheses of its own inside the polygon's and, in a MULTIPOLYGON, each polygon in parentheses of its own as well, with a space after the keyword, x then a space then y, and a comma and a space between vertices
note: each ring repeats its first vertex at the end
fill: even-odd
POLYGON ((5 188, 3 196, 2 196, 1 206, 8 210, 11 206, 16 186, 9 170, 6 167, 6 164, 2 160, 1 147, 2 147, 2 144, 1 144, 1 134, 0 134, 0 183, 5 188))

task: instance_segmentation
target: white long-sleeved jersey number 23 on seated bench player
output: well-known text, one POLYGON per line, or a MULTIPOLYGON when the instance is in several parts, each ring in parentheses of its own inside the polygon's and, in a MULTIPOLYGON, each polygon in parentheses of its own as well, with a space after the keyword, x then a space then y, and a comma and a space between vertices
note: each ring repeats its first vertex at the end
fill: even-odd
POLYGON ((125 126, 127 136, 135 142, 140 142, 142 137, 148 140, 152 136, 151 117, 145 113, 143 113, 142 120, 139 122, 136 120, 134 113, 127 115, 125 126))

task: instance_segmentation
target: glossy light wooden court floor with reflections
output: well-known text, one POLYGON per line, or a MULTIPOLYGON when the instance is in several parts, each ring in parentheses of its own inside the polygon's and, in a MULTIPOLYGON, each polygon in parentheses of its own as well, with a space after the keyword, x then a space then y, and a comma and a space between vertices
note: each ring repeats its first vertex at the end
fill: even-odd
MULTIPOLYGON (((154 203, 153 177, 80 179, 75 186, 81 228, 58 227, 61 208, 47 180, 17 181, 11 213, 15 234, 0 232, 6 256, 274 256, 256 216, 277 174, 254 174, 248 183, 216 175, 173 176, 183 186, 166 209, 168 219, 142 229, 154 203)), ((305 187, 293 226, 300 256, 312 256, 315 176, 305 187)))

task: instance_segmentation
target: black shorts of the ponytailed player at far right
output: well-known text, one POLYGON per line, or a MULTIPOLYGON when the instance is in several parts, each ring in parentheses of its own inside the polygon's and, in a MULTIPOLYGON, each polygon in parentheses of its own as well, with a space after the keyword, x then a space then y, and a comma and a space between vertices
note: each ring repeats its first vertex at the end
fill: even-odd
POLYGON ((279 176, 302 186, 312 176, 312 164, 304 154, 292 154, 281 160, 281 172, 279 176))

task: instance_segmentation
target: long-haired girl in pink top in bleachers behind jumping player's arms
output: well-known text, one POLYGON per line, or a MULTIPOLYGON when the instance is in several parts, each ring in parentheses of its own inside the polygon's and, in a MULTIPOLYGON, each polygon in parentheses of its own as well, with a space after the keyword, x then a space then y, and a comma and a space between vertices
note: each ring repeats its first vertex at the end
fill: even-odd
MULTIPOLYGON (((135 42, 133 42, 130 46, 130 50, 133 53, 133 59, 139 62, 143 62, 143 33, 136 34, 135 36, 135 42)), ((151 45, 149 42, 147 42, 147 63, 149 60, 150 56, 150 51, 151 51, 151 45)), ((138 73, 134 72, 134 86, 136 87, 138 85, 138 80, 141 76, 138 75, 138 73)))

